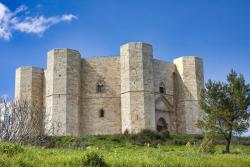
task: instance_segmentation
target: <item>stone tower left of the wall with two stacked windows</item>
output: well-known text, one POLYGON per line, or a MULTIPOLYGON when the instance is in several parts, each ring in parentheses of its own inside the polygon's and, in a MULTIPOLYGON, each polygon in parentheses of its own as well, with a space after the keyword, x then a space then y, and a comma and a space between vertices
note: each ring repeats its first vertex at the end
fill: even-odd
POLYGON ((46 113, 58 125, 58 135, 79 134, 81 57, 71 49, 48 52, 46 113))

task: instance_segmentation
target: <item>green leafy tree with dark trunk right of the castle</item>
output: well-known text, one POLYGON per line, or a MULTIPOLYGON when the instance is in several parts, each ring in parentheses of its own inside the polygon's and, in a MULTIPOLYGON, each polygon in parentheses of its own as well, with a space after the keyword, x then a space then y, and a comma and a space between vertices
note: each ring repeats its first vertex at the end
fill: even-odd
POLYGON ((231 70, 226 83, 211 80, 206 83, 200 104, 205 114, 198 127, 206 133, 221 135, 225 139, 225 153, 229 153, 232 136, 249 128, 250 85, 242 74, 231 70))

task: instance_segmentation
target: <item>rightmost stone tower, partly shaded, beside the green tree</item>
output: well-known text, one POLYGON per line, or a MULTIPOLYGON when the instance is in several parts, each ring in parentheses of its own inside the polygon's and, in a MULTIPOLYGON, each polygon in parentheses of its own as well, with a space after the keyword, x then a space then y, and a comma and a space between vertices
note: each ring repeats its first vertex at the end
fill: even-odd
POLYGON ((200 91, 204 88, 203 61, 198 57, 187 56, 175 59, 174 64, 177 131, 201 133, 196 123, 202 114, 199 100, 200 91))

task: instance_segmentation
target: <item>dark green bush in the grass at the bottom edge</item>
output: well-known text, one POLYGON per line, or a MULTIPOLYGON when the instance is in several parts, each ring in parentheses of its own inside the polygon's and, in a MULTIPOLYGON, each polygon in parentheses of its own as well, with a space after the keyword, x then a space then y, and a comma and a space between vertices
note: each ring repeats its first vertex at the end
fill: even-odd
POLYGON ((108 167, 104 158, 96 152, 88 153, 82 160, 83 166, 89 167, 108 167))

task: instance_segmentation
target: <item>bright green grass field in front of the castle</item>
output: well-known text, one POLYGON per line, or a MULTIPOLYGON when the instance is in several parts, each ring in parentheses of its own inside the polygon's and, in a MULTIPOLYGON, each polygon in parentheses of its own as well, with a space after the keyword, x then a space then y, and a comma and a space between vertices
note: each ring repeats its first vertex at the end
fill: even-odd
MULTIPOLYGON (((190 137, 190 136, 188 136, 190 137)), ((174 136, 175 140, 183 137, 174 136)), ((187 137, 184 137, 185 140, 187 137)), ((79 141, 84 141, 82 148, 44 148, 34 146, 22 146, 20 149, 16 145, 11 147, 9 143, 8 151, 0 151, 0 166, 20 166, 20 167, 59 167, 59 166, 84 166, 83 160, 89 153, 100 155, 108 166, 162 166, 162 167, 249 167, 250 147, 232 145, 231 154, 222 154, 223 146, 217 146, 215 154, 201 154, 198 152, 198 145, 174 145, 168 139, 162 144, 154 147, 148 145, 133 145, 120 136, 89 136, 82 138, 61 137, 54 141, 57 147, 62 145, 72 145, 79 141), (12 148, 19 148, 20 151, 14 153, 12 148)), ((191 138, 190 138, 191 139, 191 138)), ((81 143, 80 143, 81 144, 81 143)))

